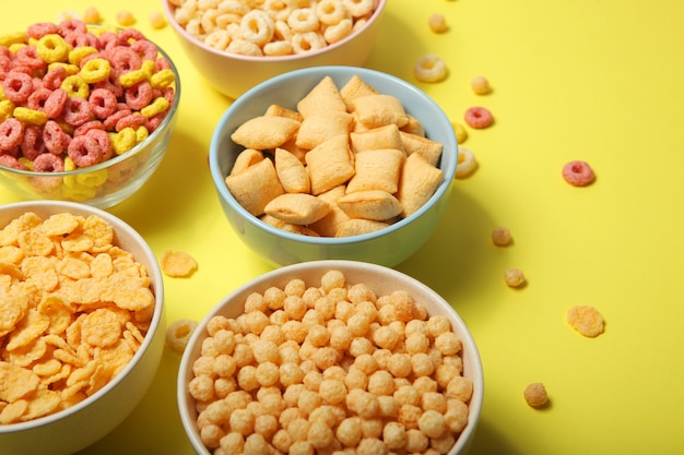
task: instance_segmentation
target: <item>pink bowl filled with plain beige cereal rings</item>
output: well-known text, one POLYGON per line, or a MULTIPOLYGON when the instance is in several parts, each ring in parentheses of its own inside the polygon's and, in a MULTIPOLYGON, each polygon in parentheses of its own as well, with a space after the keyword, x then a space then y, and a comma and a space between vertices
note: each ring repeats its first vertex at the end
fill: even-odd
POLYGON ((178 41, 214 89, 236 99, 300 68, 363 67, 387 0, 164 0, 178 41))

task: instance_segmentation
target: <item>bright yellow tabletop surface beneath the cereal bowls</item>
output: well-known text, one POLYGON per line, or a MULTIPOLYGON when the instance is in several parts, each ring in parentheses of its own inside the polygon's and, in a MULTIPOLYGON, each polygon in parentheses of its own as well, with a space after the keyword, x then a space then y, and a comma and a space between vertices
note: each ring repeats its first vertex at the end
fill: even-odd
MULTIPOLYGON (((95 3, 12 2, 0 33, 95 3)), ((181 250, 198 260, 192 277, 165 278, 165 290, 169 322, 199 320, 270 270, 233 234, 210 178, 210 139, 229 100, 203 83, 169 26, 150 27, 156 0, 97 8, 111 23, 120 9, 132 11, 180 71, 168 154, 110 212, 157 255, 181 250)), ((683 45, 680 0, 389 0, 367 67, 416 83, 414 61, 439 55, 449 77, 416 84, 453 120, 475 105, 496 118, 470 130, 462 146, 479 169, 457 182, 432 239, 397 267, 450 301, 479 344, 485 400, 473 454, 684 451, 683 45), (447 33, 429 32, 434 12, 447 17, 447 33), (472 93, 476 75, 491 81, 490 95, 472 93), (573 159, 591 164, 594 184, 562 179, 573 159), (508 227, 515 243, 493 247, 495 226, 508 227), (506 287, 507 267, 521 268, 528 285, 506 287), (575 304, 597 307, 605 333, 575 333, 565 322, 575 304), (547 408, 524 403, 530 382, 546 385, 547 408)), ((13 201, 0 190, 0 203, 13 201)), ((167 350, 134 414, 80 455, 190 455, 176 407, 178 363, 167 350)))

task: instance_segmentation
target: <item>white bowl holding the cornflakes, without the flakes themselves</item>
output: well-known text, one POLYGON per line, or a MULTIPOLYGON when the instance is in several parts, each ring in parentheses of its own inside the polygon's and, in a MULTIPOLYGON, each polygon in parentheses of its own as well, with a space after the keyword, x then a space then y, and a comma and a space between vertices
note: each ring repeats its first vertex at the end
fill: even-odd
POLYGON ((156 258, 128 224, 98 208, 57 201, 21 202, 0 206, 0 226, 26 212, 44 219, 57 213, 97 215, 115 230, 115 241, 143 264, 155 296, 149 332, 128 366, 107 385, 83 402, 35 420, 0 426, 0 452, 16 455, 73 454, 105 436, 121 423, 143 398, 164 351, 164 286, 156 258))

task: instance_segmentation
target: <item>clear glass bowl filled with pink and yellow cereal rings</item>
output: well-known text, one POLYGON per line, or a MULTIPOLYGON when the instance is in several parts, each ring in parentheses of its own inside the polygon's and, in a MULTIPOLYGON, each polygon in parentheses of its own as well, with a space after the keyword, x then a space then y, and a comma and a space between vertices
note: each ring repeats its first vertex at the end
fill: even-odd
POLYGON ((162 161, 180 81, 134 28, 79 20, 0 37, 0 181, 23 200, 111 207, 162 161))

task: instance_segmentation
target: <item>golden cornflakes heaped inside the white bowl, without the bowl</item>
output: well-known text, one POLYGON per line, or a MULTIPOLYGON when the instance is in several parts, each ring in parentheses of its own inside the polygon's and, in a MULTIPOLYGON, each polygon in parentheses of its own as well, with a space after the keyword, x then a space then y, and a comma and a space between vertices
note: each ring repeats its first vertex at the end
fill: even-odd
POLYGON ((97 216, 27 212, 0 229, 0 424, 67 409, 140 348, 155 298, 145 267, 97 216))

